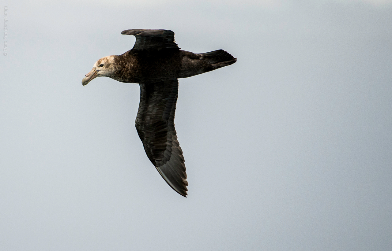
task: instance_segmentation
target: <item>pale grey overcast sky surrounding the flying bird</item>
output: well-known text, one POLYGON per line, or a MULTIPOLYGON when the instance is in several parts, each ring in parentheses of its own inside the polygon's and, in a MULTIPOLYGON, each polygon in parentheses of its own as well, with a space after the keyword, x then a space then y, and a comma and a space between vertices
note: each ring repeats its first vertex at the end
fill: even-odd
POLYGON ((392 249, 390 1, 3 6, 0 250, 392 249), (188 198, 145 155, 139 86, 81 84, 133 28, 238 58, 180 79, 188 198))

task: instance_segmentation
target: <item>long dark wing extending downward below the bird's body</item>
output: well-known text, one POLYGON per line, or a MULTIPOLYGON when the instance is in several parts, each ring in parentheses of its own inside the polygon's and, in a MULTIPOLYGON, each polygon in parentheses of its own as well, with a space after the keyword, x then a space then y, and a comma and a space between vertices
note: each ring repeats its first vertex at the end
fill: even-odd
POLYGON ((187 197, 184 157, 174 129, 178 79, 140 84, 135 126, 147 157, 177 193, 187 197))

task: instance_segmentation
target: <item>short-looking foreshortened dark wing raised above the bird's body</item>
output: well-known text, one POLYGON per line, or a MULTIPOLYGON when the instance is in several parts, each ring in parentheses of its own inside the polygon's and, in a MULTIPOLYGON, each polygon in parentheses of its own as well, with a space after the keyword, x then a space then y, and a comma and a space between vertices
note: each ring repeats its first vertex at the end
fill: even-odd
POLYGON ((121 34, 134 35, 136 42, 132 50, 161 50, 164 48, 178 48, 174 43, 174 32, 169 30, 131 29, 121 34))

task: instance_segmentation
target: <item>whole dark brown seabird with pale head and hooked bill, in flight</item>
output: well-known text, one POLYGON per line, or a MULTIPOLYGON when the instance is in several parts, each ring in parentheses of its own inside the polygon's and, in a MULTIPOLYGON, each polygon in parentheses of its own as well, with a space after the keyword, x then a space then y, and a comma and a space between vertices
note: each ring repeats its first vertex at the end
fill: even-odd
POLYGON ((187 197, 184 157, 174 128, 178 79, 231 65, 237 59, 223 50, 198 54, 180 50, 169 30, 131 29, 121 34, 135 36, 134 47, 96 61, 82 85, 97 77, 140 85, 135 126, 144 150, 167 184, 187 197))

